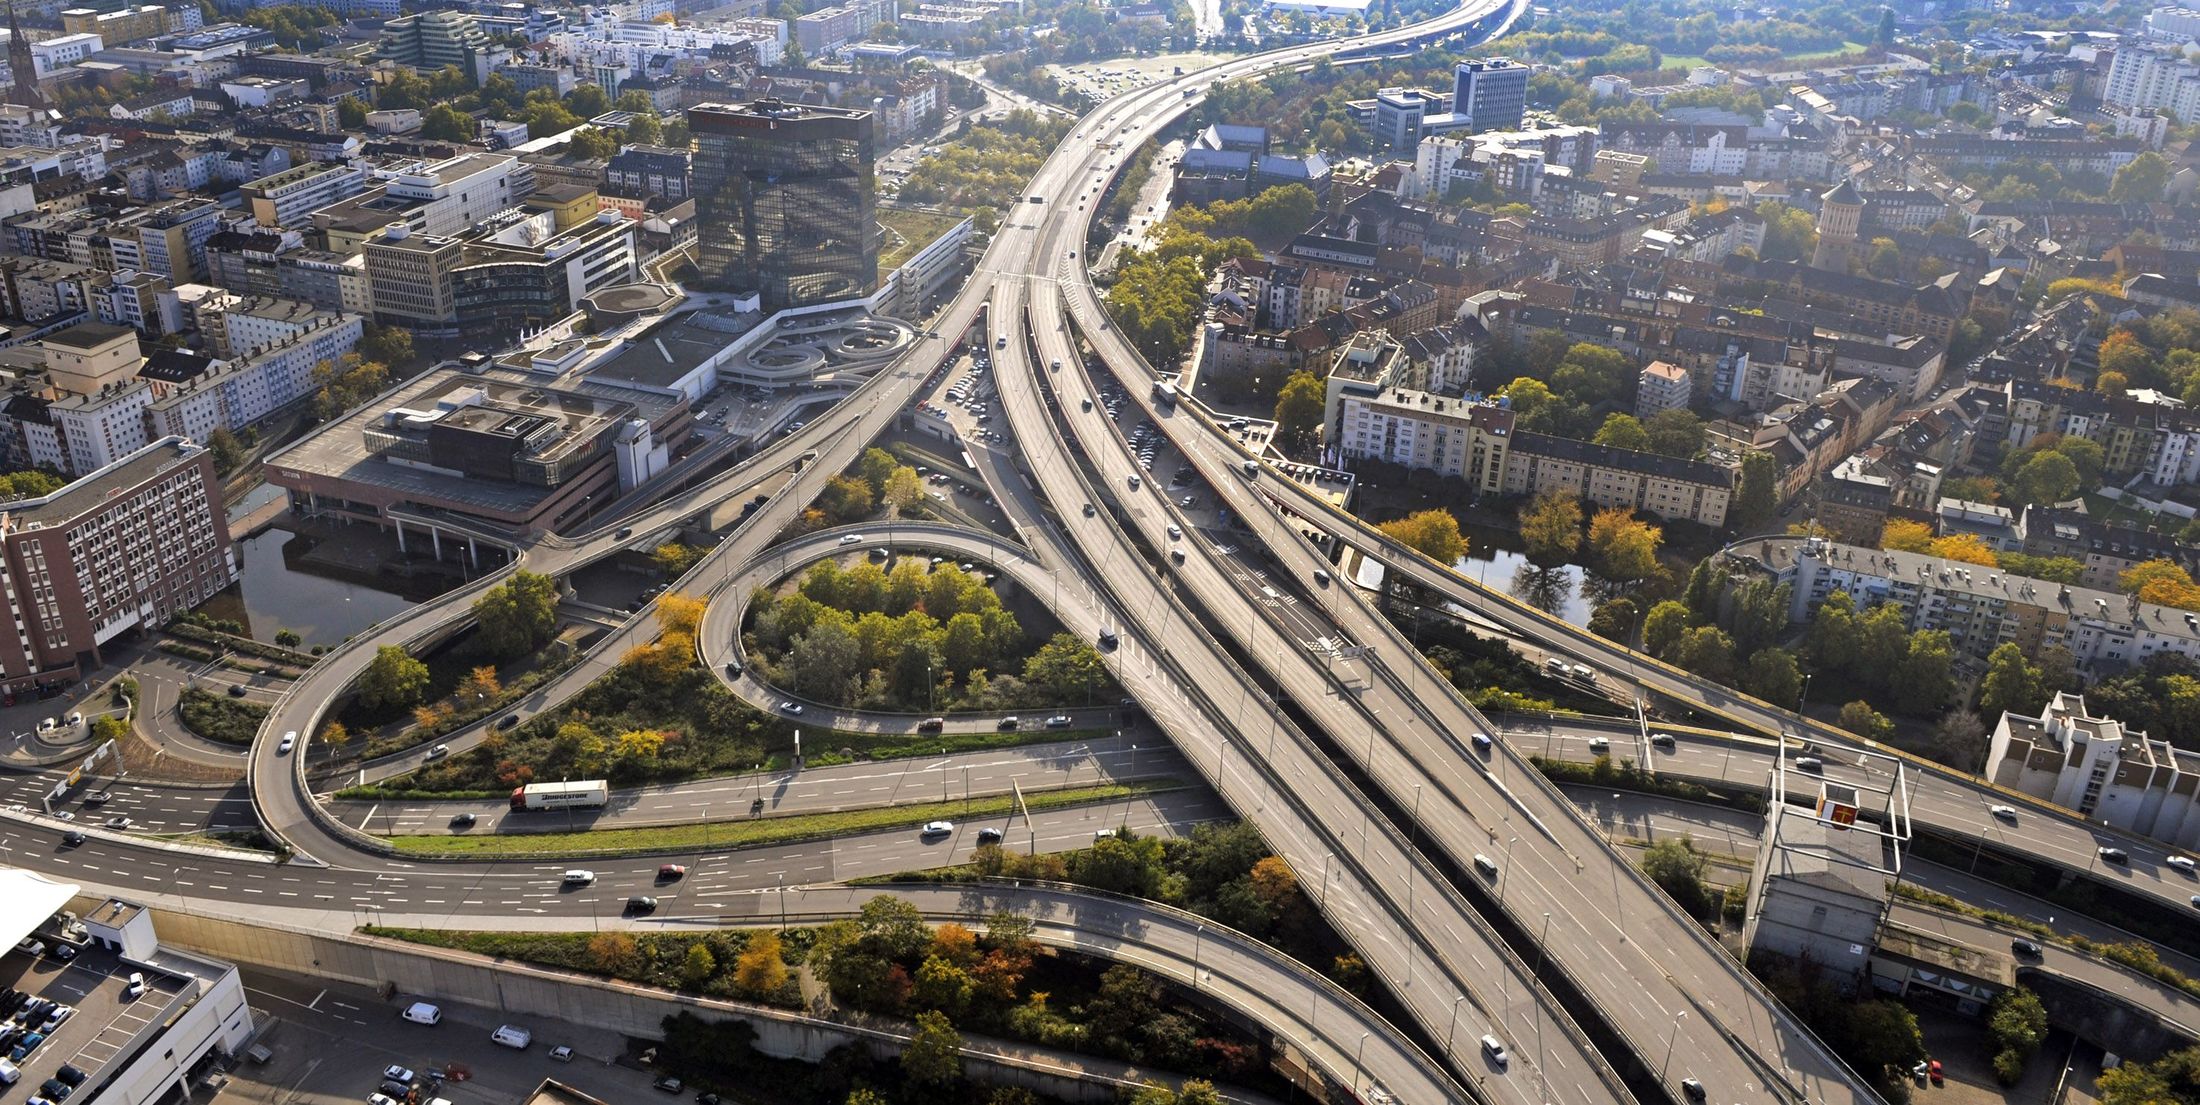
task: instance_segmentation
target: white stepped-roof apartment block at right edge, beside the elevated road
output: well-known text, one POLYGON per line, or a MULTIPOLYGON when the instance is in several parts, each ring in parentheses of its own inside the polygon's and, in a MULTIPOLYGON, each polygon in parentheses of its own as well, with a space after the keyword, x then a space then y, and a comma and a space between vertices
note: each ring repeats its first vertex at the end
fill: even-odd
POLYGON ((2002 711, 1984 773, 2086 821, 2178 847, 2200 843, 2200 753, 2094 718, 2083 696, 2057 691, 2039 718, 2002 711))

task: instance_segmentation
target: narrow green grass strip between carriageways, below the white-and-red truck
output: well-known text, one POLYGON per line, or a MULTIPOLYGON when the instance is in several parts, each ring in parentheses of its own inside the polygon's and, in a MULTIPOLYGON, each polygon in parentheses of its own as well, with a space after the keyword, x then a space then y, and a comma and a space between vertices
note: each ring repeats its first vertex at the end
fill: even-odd
MULTIPOLYGON (((1067 790, 1025 792, 1023 801, 1038 810, 1089 806, 1177 790, 1179 779, 1142 779, 1133 784, 1071 786, 1067 790)), ((623 856, 678 852, 684 847, 752 847, 763 843, 878 832, 924 821, 1001 817, 1014 808, 1012 795, 972 801, 924 801, 871 810, 834 810, 821 814, 755 817, 715 823, 680 823, 649 828, 605 828, 592 832, 515 832, 515 834, 420 834, 389 836, 398 852, 418 856, 623 856)), ((557 817, 557 814, 543 814, 557 817)))

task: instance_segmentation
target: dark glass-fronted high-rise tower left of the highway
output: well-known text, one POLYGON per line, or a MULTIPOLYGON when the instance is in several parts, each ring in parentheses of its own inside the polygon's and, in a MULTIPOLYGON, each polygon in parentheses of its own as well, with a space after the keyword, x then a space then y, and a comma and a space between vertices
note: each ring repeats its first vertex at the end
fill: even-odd
POLYGON ((704 286, 763 310, 878 288, 871 112, 759 99, 686 117, 704 286))

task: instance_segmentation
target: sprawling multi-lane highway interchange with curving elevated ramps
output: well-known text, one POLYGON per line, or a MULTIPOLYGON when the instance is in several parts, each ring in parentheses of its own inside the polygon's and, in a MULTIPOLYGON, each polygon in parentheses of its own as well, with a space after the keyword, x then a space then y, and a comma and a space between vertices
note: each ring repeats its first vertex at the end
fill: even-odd
MULTIPOLYGON (((1410 35, 1382 37, 1426 37, 1489 11, 1496 4, 1472 4, 1410 35)), ((1309 982, 1309 973, 1276 964, 1272 955, 1245 951, 1243 962, 1230 964, 1230 986, 1243 991, 1221 995, 1232 1008, 1252 1010, 1261 1006, 1263 993, 1302 988, 1309 1008, 1346 1010, 1344 1019, 1353 1024, 1342 1032, 1340 1026, 1305 1024, 1320 1017, 1296 1010, 1254 1015, 1311 1048, 1316 1061, 1340 1083, 1349 1081, 1357 1092, 1366 1074, 1368 1085, 1384 1085, 1404 1101, 1465 1098, 1470 1090, 1450 1079, 1470 1083, 1472 1096, 1481 1101, 1628 1101, 1635 1094, 1610 1063, 1657 1054, 1670 1057, 1652 1072, 1652 1081, 1665 1083, 1668 1092, 1676 1092, 1679 1079, 1696 1076, 1716 1101, 1872 1101, 1855 1072, 1802 1032, 1527 764, 1531 748, 1500 740, 1489 759, 1467 753, 1461 740, 1465 733, 1498 729, 1459 700, 1360 594, 1340 586, 1311 586, 1313 570, 1327 559, 1298 535, 1300 519, 1318 519, 1322 530, 1360 546, 1390 572, 1514 630, 1540 634, 1553 647, 1606 671, 1630 669, 1637 658, 1562 621, 1481 592, 1274 471, 1247 473, 1245 453, 1188 407, 1153 407, 1146 398, 1148 370, 1122 335, 1107 328, 1085 266, 1071 260, 1074 251, 1085 249, 1098 200, 1120 163, 1197 103, 1206 84, 1305 64, 1335 48, 1338 44, 1294 46, 1234 59, 1100 106, 1030 185, 1045 203, 1019 205, 1003 222, 977 277, 937 324, 944 339, 922 341, 829 416, 814 418, 801 434, 772 445, 733 475, 620 517, 592 535, 537 541, 521 550, 519 566, 563 575, 722 500, 768 489, 770 500, 748 524, 680 583, 680 590, 722 599, 706 610, 700 645, 713 671, 724 671, 724 660, 737 647, 737 597, 746 597, 746 586, 783 577, 805 550, 827 552, 823 539, 774 548, 792 513, 814 500, 823 482, 843 471, 911 403, 917 381, 944 359, 955 337, 975 332, 990 348, 999 346, 997 337, 1005 337, 1008 343, 994 348, 994 357, 1003 409, 1019 449, 981 449, 979 467, 1021 544, 922 526, 895 526, 900 533, 891 541, 990 557, 1016 572, 1030 594, 1052 601, 1074 632, 1118 632, 1120 645, 1109 654, 1118 680, 1179 748, 1175 768, 1190 764, 1225 803, 1164 795, 1129 803, 1124 817, 1131 823, 1170 825, 1223 817, 1228 808, 1258 823, 1338 931, 1390 984, 1421 1037, 1445 1052, 1450 1074, 1419 1054, 1401 1032, 1368 1021, 1373 1015, 1364 1010, 1351 1013, 1349 1004, 1333 1004, 1335 995, 1309 982), (1133 398, 1133 409, 1151 416, 1177 456, 1197 469, 1199 491, 1252 528, 1265 555, 1274 557, 1272 564, 1243 559, 1234 548, 1206 537, 1201 522, 1210 515, 1186 513, 1155 480, 1133 484, 1133 475, 1144 473, 1118 425, 1085 407, 1087 398, 1100 398, 1102 381, 1087 374, 1078 339, 1115 374, 1115 383, 1133 398), (1100 508, 1085 513, 1085 504, 1100 508), (1190 537, 1170 537, 1170 526, 1181 526, 1190 537), (1186 550, 1181 564, 1157 552, 1173 546, 1186 550), (1313 641, 1364 645, 1371 652, 1364 658, 1338 658, 1309 649, 1313 641), (1291 709, 1278 707, 1278 696, 1291 709), (1476 883, 1478 876, 1454 874, 1470 872, 1472 856, 1489 856, 1496 876, 1476 883), (1540 988, 1533 980, 1538 971, 1483 920, 1485 909, 1505 916, 1514 931, 1540 949, 1538 969, 1562 975, 1599 1010, 1624 1041, 1615 1054, 1599 1052, 1591 1035, 1540 988), (1509 1070, 1474 1052, 1472 1041, 1481 1032, 1507 1039, 1514 1048, 1509 1070), (1371 1035, 1379 1039, 1373 1048, 1371 1035), (1454 1041, 1467 1048, 1452 1048, 1454 1041), (1353 1050, 1364 1059, 1351 1057, 1353 1050)), ((70 850, 59 847, 59 830, 48 823, 11 825, 0 832, 0 847, 20 863, 68 878, 141 896, 158 887, 158 894, 187 900, 196 896, 202 905, 264 900, 359 916, 464 918, 466 925, 526 922, 515 913, 587 916, 605 922, 605 913, 616 911, 627 894, 656 887, 660 858, 592 863, 598 883, 585 894, 561 894, 550 885, 563 863, 422 865, 383 852, 378 841, 323 810, 304 777, 304 757, 273 751, 273 737, 286 731, 312 733, 321 711, 376 647, 431 643, 462 625, 471 601, 502 579, 504 572, 477 579, 361 634, 297 680, 277 704, 251 753, 251 801, 260 823, 297 847, 299 863, 158 852, 97 832, 90 843, 70 850)), ((554 709, 651 632, 647 614, 629 619, 515 713, 554 709)), ((1646 685, 1723 711, 1738 724, 1769 733, 1804 726, 1786 711, 1681 671, 1648 665, 1641 676, 1646 685)), ((741 687, 737 680, 735 689, 750 698, 768 691, 746 682, 741 687)), ((862 720, 851 720, 856 722, 862 720)), ((873 718, 871 724, 895 722, 873 718)), ((1830 731, 1813 735, 1826 744, 1852 744, 1830 731)), ((462 746, 464 740, 469 737, 451 744, 462 746)), ((1734 748, 1692 740, 1665 768, 1709 770, 1716 757, 1720 773, 1747 770, 1736 766, 1736 755, 1734 748)), ((1753 755, 1762 764, 1762 746, 1753 755)), ((992 766, 1012 773, 1014 759, 997 759, 992 766)), ((1764 768, 1756 770, 1762 777, 1764 768)), ((1965 834, 2000 832, 1991 819, 1982 819, 1991 797, 1987 790, 1960 775, 1927 779, 1932 786, 1921 786, 1916 803, 1921 821, 1965 834)), ((812 790, 810 801, 829 801, 829 786, 812 790)), ((873 779, 862 786, 900 784, 873 779)), ((988 777, 988 786, 997 792, 999 779, 988 777)), ((739 803, 735 795, 726 799, 739 803)), ((708 817, 708 801, 713 799, 704 799, 700 817, 708 817)), ((367 810, 370 821, 372 814, 367 810)), ((2046 810, 2026 810, 2024 817, 2031 852, 2075 869, 2094 867, 2094 830, 2046 810)), ((407 828, 418 823, 418 814, 407 814, 407 828)), ((1034 819, 1032 843, 1067 847, 1089 841, 1091 825, 1091 810, 1043 812, 1034 819)), ((2132 850, 2134 863, 2127 872, 2114 872, 2116 878, 2178 905, 2189 898, 2191 891, 2182 889, 2189 880, 2165 878, 2163 850, 2119 843, 2132 850)), ((774 891, 779 905, 785 905, 779 883, 829 883, 935 865, 966 845, 968 839, 961 836, 948 852, 924 852, 900 832, 691 856, 693 874, 675 894, 664 896, 662 913, 752 911, 761 900, 759 889, 774 891), (772 887, 763 887, 763 874, 774 876, 772 887)), ((2101 872, 2094 867, 2094 874, 2101 872)), ((1056 938, 1098 947, 1093 931, 1076 925, 1063 927, 1056 938)), ((1190 960, 1199 962, 1199 936, 1192 940, 1190 960)), ((1181 958, 1179 944, 1175 940, 1164 953, 1181 958)), ((1212 971, 1214 962, 1206 966, 1212 971)), ((1650 1061, 1643 1059, 1643 1065, 1650 1061)))

